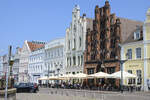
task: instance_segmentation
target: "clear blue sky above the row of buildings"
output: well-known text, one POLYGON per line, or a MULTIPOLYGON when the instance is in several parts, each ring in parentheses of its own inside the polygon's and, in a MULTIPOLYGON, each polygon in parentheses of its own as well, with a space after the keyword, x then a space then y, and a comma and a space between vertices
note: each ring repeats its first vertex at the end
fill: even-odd
MULTIPOLYGON (((0 0, 0 55, 22 47, 24 40, 50 41, 64 37, 75 4, 81 14, 94 18, 94 8, 105 0, 0 0)), ((144 21, 150 0, 110 0, 117 16, 144 21)))

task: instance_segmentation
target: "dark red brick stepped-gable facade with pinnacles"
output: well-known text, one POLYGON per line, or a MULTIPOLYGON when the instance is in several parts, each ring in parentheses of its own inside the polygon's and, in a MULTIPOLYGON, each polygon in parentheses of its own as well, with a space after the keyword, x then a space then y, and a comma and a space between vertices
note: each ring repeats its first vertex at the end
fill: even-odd
MULTIPOLYGON (((110 5, 106 1, 104 7, 96 6, 93 30, 87 30, 84 72, 92 74, 99 71, 107 73, 119 71, 119 43, 121 43, 121 22, 115 14, 110 13, 110 5)), ((94 83, 96 84, 96 80, 94 83)))

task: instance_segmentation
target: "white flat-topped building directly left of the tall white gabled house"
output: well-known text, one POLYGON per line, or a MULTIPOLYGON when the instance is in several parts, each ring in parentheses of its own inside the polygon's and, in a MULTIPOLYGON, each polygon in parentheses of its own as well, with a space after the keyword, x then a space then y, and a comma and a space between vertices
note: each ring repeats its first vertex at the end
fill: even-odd
POLYGON ((64 74, 65 39, 59 38, 50 41, 45 45, 45 75, 60 76, 64 74))

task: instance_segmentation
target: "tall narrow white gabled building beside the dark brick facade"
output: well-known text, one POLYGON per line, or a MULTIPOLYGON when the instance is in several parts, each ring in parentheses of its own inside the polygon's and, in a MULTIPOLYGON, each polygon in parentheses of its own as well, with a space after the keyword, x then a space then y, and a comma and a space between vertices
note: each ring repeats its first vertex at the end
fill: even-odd
POLYGON ((72 23, 66 29, 66 74, 83 72, 86 30, 92 29, 92 25, 92 19, 86 18, 85 14, 80 17, 80 8, 75 6, 72 11, 72 23))

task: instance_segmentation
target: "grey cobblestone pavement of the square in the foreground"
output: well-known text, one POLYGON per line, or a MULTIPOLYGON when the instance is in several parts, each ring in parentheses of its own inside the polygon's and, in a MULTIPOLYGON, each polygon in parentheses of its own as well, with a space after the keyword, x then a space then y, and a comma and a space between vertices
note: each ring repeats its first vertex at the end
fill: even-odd
POLYGON ((150 93, 41 88, 38 93, 18 93, 17 100, 150 100, 150 93))

